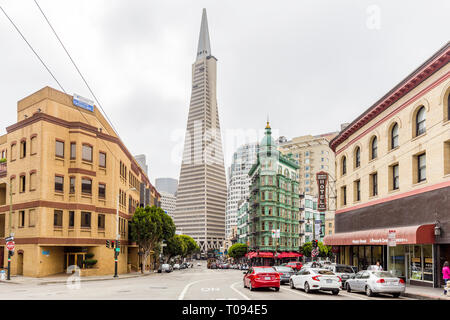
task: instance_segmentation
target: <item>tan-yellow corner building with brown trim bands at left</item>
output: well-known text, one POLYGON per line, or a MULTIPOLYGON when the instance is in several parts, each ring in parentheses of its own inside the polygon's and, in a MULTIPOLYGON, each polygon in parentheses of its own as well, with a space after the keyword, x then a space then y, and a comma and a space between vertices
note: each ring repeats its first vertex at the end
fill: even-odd
MULTIPOLYGON (((42 277, 71 265, 82 274, 113 274, 113 250, 105 244, 116 239, 117 227, 119 273, 137 269, 128 221, 140 203, 141 183, 152 186, 97 108, 77 107, 72 96, 45 87, 18 102, 17 123, 6 131, 0 137, 6 159, 0 164, 0 237, 14 234, 12 274, 42 277), (86 254, 94 254, 94 268, 85 269, 86 254)), ((157 202, 158 194, 152 196, 157 202)), ((7 255, 2 240, 0 266, 7 255)))

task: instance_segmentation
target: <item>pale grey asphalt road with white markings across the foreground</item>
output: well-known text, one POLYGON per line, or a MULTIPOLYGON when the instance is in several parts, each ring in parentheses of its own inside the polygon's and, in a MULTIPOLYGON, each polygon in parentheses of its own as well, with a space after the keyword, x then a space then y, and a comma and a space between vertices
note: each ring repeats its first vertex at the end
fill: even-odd
POLYGON ((1 300, 411 300, 383 295, 367 297, 364 293, 341 291, 307 294, 282 285, 280 291, 243 287, 240 270, 209 270, 202 266, 171 273, 117 279, 81 282, 79 286, 59 284, 0 284, 1 300))

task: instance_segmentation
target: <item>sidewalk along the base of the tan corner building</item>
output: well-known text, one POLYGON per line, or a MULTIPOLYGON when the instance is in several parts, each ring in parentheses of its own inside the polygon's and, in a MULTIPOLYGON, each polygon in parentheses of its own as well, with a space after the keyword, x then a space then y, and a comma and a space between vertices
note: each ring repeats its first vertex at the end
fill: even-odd
MULTIPOLYGON (((80 282, 86 281, 106 281, 106 280, 121 280, 121 279, 130 279, 130 278, 139 278, 146 277, 150 275, 156 274, 154 271, 145 272, 142 274, 141 272, 131 272, 126 274, 119 274, 119 277, 114 278, 113 275, 104 275, 104 276, 86 276, 80 277, 80 282)), ((11 276, 11 280, 0 280, 0 284, 34 284, 34 285, 46 285, 46 284, 56 284, 56 283, 66 283, 71 275, 60 273, 57 275, 44 277, 44 278, 32 278, 32 277, 23 277, 23 276, 11 276)))

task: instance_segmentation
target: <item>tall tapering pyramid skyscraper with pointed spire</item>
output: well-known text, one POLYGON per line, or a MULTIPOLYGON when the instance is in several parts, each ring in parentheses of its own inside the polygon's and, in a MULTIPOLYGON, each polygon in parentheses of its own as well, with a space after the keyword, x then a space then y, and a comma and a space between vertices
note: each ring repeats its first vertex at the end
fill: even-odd
POLYGON ((193 237, 202 252, 220 249, 225 238, 227 185, 216 99, 216 63, 211 55, 203 9, 192 93, 174 214, 181 233, 193 237))

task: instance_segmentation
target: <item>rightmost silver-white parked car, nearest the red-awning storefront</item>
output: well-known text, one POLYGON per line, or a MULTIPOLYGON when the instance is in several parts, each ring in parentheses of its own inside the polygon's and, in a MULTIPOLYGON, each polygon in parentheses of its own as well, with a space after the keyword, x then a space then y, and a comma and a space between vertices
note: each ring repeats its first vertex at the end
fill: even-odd
POLYGON ((405 281, 389 271, 363 270, 345 284, 348 292, 361 291, 372 297, 376 293, 389 293, 397 298, 405 292, 405 281))

